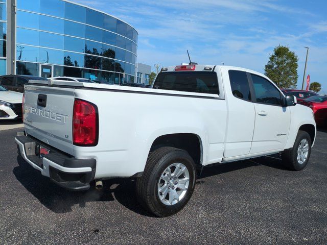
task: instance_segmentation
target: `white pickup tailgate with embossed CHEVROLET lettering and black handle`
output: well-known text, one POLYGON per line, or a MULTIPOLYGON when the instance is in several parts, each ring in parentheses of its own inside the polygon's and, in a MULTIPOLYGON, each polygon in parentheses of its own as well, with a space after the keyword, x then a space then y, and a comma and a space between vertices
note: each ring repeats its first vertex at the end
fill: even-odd
POLYGON ((28 135, 74 155, 72 116, 74 89, 25 86, 24 124, 28 135))

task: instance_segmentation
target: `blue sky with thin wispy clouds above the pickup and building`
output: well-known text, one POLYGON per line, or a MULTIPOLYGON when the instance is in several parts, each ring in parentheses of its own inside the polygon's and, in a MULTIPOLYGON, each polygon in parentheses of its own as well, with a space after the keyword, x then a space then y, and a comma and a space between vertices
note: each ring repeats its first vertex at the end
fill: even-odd
MULTIPOLYGON (((264 72, 269 54, 287 45, 327 93, 327 1, 305 0, 74 0, 119 17, 138 31, 137 61, 161 66, 192 61, 264 72)), ((153 68, 154 69, 154 68, 153 68)))

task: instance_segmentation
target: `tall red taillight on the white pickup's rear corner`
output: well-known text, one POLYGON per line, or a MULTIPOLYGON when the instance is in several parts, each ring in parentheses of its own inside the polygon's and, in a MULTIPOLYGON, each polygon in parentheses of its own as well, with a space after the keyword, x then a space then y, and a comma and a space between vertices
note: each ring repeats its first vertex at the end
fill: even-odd
POLYGON ((73 143, 79 146, 98 144, 98 109, 97 106, 76 99, 73 111, 73 143))

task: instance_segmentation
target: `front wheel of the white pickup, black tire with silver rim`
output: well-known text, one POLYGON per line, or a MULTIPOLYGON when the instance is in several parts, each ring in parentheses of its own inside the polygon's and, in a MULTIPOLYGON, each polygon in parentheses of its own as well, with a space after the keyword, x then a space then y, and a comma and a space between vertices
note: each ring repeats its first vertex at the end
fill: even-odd
POLYGON ((297 133, 293 148, 287 149, 282 153, 283 164, 285 166, 287 166, 289 169, 295 170, 295 171, 299 171, 299 170, 302 170, 303 168, 305 168, 307 166, 309 158, 310 158, 311 144, 312 144, 312 142, 311 142, 310 135, 305 131, 299 130, 297 133), (305 160, 302 158, 300 158, 300 160, 298 160, 298 150, 301 151, 301 149, 299 149, 301 142, 308 143, 308 146, 305 145, 306 146, 305 148, 308 150, 307 151, 308 154, 307 154, 307 157, 305 158, 305 160))

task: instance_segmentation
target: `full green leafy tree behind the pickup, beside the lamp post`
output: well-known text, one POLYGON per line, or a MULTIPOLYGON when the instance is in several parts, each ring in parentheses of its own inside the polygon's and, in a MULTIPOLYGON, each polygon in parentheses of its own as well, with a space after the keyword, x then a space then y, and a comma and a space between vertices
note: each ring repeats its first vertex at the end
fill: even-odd
POLYGON ((289 47, 278 45, 265 66, 265 75, 279 88, 295 88, 297 84, 297 55, 289 47))

